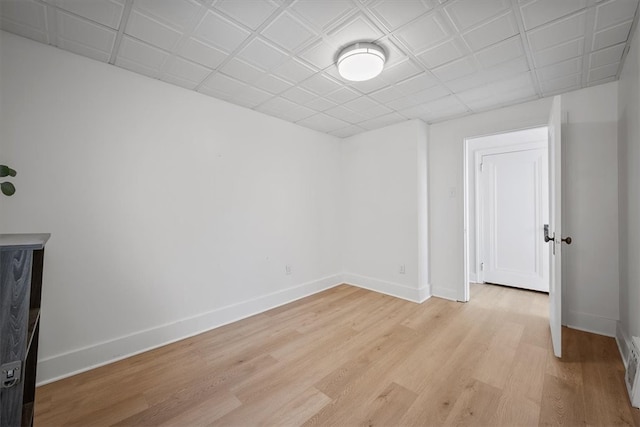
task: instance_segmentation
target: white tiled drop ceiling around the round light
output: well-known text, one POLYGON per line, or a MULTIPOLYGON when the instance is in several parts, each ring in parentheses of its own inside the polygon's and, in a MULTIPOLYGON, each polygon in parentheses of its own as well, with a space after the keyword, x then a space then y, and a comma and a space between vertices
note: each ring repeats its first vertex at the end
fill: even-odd
POLYGON ((18 0, 0 28, 346 137, 616 80, 638 0, 18 0), (341 47, 375 41, 353 83, 341 47))

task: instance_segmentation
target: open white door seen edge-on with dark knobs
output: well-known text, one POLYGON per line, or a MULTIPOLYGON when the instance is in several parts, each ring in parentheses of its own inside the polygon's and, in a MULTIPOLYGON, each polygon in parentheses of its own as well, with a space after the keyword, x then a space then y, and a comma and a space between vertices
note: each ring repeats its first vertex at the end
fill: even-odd
MULTIPOLYGON (((549 324, 553 353, 562 356, 562 104, 553 98, 549 117, 549 324)), ((567 239, 567 243, 571 240, 567 239)))

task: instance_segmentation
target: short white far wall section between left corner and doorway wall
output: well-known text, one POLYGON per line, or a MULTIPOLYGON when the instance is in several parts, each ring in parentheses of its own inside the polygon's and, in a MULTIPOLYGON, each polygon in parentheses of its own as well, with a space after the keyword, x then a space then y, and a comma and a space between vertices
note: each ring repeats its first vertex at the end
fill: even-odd
POLYGON ((342 159, 347 282, 423 301, 430 296, 426 125, 414 120, 347 138, 342 159))

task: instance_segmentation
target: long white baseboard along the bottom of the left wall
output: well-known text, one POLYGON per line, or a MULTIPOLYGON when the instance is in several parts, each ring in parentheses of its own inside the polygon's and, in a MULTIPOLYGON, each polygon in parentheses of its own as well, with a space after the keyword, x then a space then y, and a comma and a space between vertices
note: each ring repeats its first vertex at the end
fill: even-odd
POLYGON ((342 283, 343 278, 341 275, 325 277, 177 322, 48 357, 38 361, 37 384, 47 384, 162 347, 333 288, 342 283))

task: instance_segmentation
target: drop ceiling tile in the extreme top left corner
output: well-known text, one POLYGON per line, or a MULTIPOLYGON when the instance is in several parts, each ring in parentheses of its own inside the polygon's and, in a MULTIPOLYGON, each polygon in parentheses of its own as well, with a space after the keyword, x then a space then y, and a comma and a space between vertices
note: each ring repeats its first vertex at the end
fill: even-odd
POLYGON ((33 1, 3 1, 0 3, 0 27, 42 43, 48 43, 46 6, 33 1))

